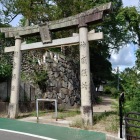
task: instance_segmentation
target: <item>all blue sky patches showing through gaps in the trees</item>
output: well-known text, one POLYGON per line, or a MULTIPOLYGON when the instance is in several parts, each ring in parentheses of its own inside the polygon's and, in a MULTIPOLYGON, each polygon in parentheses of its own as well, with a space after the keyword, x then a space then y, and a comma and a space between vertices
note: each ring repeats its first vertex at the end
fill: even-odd
MULTIPOLYGON (((124 7, 125 6, 136 6, 138 7, 139 0, 123 0, 124 7)), ((16 27, 19 24, 19 19, 21 16, 18 16, 11 22, 11 25, 16 27)), ((112 63, 113 69, 119 67, 120 71, 123 71, 127 67, 133 67, 135 65, 135 52, 137 50, 137 46, 133 44, 126 44, 126 46, 122 47, 118 53, 111 52, 110 62, 112 63)))

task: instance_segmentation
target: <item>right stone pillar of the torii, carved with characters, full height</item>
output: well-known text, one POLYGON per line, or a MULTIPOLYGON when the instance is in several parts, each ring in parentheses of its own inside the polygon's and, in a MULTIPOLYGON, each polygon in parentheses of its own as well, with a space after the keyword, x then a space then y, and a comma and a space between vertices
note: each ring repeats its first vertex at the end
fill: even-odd
POLYGON ((80 78, 81 78, 81 113, 85 125, 93 125, 93 107, 90 88, 90 56, 88 28, 79 26, 80 36, 80 78))

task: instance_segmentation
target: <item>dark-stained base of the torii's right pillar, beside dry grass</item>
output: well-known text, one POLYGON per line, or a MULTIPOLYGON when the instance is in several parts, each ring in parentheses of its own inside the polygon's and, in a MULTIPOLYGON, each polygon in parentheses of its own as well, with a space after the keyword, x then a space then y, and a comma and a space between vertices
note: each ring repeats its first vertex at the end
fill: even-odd
POLYGON ((81 106, 82 120, 84 125, 93 125, 93 109, 91 106, 81 106))

